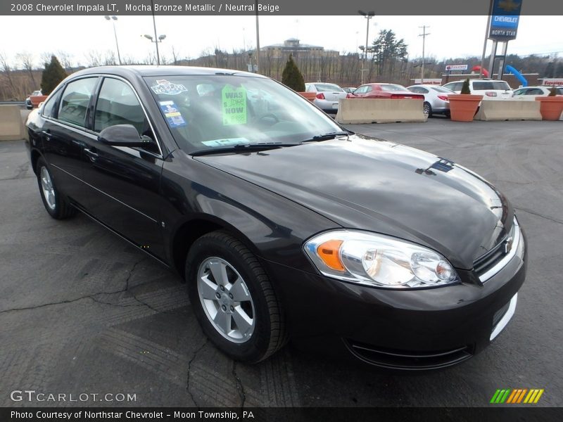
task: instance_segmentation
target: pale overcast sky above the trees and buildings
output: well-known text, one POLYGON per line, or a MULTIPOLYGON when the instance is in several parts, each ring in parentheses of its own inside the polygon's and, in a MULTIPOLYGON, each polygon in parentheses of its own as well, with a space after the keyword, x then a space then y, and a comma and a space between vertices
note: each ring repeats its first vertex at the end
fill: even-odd
MULTIPOLYGON (((481 56, 486 23, 486 16, 376 16, 370 22, 369 39, 379 30, 393 30, 405 39, 410 58, 415 58, 422 55, 419 26, 429 25, 426 56, 481 56)), ((154 51, 154 44, 143 37, 154 34, 151 15, 120 15, 115 26, 122 56, 142 60, 154 51)), ((160 51, 169 60, 172 46, 180 58, 196 58, 216 46, 227 51, 255 46, 254 16, 157 16, 156 26, 159 35, 166 34, 160 51)), ((561 16, 521 16, 518 37, 510 41, 508 53, 563 55, 560 27, 561 16)), ((366 20, 359 15, 260 16, 260 46, 296 37, 304 44, 344 53, 358 51, 365 35, 366 20)), ((0 39, 0 52, 18 67, 15 55, 20 52, 32 53, 39 65, 42 53, 65 51, 73 65, 86 65, 89 51, 115 51, 112 24, 99 15, 0 16, 0 39), (34 33, 34 28, 42 30, 34 33)))

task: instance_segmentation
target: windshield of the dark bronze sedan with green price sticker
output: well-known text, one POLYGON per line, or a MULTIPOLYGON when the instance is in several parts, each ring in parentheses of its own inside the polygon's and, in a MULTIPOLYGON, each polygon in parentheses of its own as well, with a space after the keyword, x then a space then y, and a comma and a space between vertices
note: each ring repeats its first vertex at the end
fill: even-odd
POLYGON ((284 85, 264 77, 145 77, 172 136, 188 154, 298 145, 343 129, 284 85))

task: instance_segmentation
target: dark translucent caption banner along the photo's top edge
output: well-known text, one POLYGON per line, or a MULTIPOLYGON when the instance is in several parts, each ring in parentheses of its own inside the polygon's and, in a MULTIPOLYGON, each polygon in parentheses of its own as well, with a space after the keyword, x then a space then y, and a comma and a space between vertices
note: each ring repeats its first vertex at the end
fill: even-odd
MULTIPOLYGON (((513 0, 521 1, 521 0, 513 0)), ((488 15, 490 0, 3 0, 0 15, 488 15)), ((563 1, 523 2, 521 15, 563 15, 563 1)))

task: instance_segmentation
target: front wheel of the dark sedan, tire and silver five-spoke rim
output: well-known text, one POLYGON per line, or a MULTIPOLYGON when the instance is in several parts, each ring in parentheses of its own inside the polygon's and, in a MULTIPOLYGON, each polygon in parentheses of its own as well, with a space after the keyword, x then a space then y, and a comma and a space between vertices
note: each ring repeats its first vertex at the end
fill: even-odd
POLYGON ((224 231, 198 238, 186 259, 191 305, 205 335, 241 362, 260 362, 286 343, 279 300, 255 255, 224 231))

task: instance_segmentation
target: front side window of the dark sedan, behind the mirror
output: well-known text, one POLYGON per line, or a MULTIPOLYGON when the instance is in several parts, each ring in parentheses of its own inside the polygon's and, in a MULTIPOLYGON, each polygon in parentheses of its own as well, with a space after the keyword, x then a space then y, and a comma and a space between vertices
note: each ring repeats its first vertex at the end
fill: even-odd
POLYGON ((131 87, 119 79, 106 77, 96 101, 94 131, 101 132, 115 124, 132 124, 139 135, 151 136, 143 108, 131 87))

